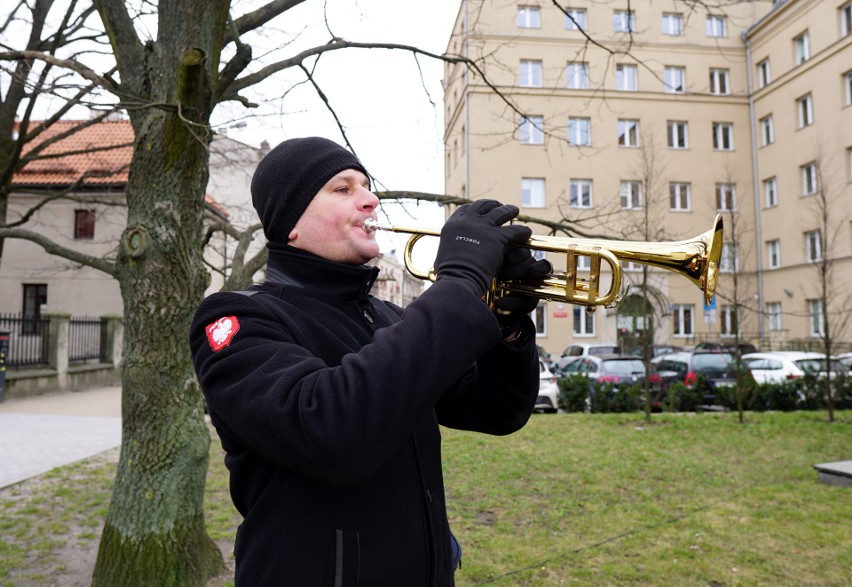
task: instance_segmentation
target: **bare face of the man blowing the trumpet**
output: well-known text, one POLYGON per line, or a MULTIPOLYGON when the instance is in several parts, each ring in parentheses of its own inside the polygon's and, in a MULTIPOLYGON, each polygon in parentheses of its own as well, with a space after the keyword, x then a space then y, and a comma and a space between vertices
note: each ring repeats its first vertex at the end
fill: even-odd
POLYGON ((367 176, 356 169, 344 169, 328 180, 290 231, 290 246, 350 265, 378 255, 376 234, 362 227, 379 208, 369 185, 367 176))

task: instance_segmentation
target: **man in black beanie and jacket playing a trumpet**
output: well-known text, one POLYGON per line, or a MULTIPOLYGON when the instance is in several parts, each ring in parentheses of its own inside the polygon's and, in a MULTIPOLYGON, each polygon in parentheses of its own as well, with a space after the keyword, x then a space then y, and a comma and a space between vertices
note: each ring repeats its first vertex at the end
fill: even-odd
POLYGON ((537 279, 514 206, 461 206, 436 283, 405 310, 370 295, 378 198, 361 162, 308 137, 260 162, 252 201, 268 279, 199 306, 195 369, 244 521, 237 585, 452 585, 438 425, 505 435, 539 386, 537 300, 483 302, 492 279, 537 279))

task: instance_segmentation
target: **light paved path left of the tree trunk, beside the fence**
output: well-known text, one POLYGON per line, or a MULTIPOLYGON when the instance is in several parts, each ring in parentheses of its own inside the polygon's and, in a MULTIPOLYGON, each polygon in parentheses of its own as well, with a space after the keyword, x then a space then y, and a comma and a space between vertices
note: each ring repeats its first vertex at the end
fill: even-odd
POLYGON ((121 388, 0 403, 0 487, 121 444, 121 388))

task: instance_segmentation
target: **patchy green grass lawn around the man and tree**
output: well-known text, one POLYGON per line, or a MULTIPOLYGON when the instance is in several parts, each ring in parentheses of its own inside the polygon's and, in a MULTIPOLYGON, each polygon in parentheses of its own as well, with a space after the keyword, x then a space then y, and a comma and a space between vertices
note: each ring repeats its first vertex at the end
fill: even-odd
MULTIPOLYGON (((852 584, 852 487, 813 469, 852 460, 852 412, 836 417, 553 414, 502 438, 444 430, 457 584, 852 584)), ((114 471, 95 457, 1 490, 0 585, 85 585, 114 471)), ((239 517, 217 440, 206 517, 228 553, 239 517)))

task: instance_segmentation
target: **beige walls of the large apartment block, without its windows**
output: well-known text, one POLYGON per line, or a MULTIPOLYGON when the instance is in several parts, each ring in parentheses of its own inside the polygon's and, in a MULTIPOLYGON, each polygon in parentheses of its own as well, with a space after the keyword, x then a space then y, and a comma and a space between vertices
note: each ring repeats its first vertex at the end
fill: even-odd
MULTIPOLYGON (((846 170, 834 189, 846 194, 846 203, 838 208, 836 215, 844 218, 846 224, 840 231, 836 249, 839 251, 838 268, 845 267, 843 258, 852 254, 849 240, 852 238, 849 226, 852 214, 848 203, 848 169, 852 169, 852 163, 845 150, 849 145, 843 141, 848 143, 848 137, 852 136, 848 119, 852 108, 841 104, 841 75, 852 67, 848 65, 852 63, 852 52, 849 50, 850 37, 838 38, 836 12, 839 4, 796 0, 774 11, 771 2, 726 5, 723 10, 711 13, 725 16, 727 31, 723 37, 707 36, 707 13, 700 7, 689 12, 679 4, 632 2, 630 6, 635 10, 636 22, 634 32, 628 35, 612 31, 613 9, 620 6, 571 4, 587 10, 589 36, 615 49, 614 52, 601 49, 579 31, 566 30, 564 15, 551 3, 526 2, 523 5, 481 0, 467 0, 461 4, 448 52, 477 60, 495 87, 486 85, 479 75, 467 72, 460 65, 449 64, 445 68, 445 186, 448 194, 471 199, 495 197, 519 205, 521 214, 532 218, 553 221, 565 217, 577 223, 580 234, 585 232, 600 239, 671 241, 690 239, 709 229, 713 217, 720 212, 716 185, 733 184, 736 206, 732 213, 722 213, 727 224, 726 241, 731 246, 736 244, 737 248, 736 275, 733 271, 721 275, 716 310, 705 311, 701 294, 693 284, 674 273, 652 270, 651 282, 665 296, 669 306, 663 308, 657 342, 690 345, 702 339, 724 338, 729 332, 722 327, 722 306, 739 303, 745 307, 739 317, 740 334, 746 340, 759 343, 762 336, 768 336, 761 314, 764 302, 776 299, 778 292, 783 292, 782 286, 790 286, 791 279, 811 290, 814 281, 813 266, 804 266, 801 259, 804 254, 802 235, 807 230, 802 224, 806 202, 797 194, 784 200, 784 205, 779 205, 777 210, 764 210, 756 205, 762 197, 760 178, 775 173, 781 190, 795 193, 801 185, 799 166, 806 162, 805 159, 815 156, 806 154, 803 141, 824 148, 831 143, 834 146, 829 150, 838 160, 831 169, 838 170, 835 175, 841 176, 839 170, 846 170), (517 26, 517 12, 523 5, 538 7, 540 28, 517 26), (683 34, 662 34, 663 13, 679 11, 684 13, 683 34), (775 20, 778 25, 772 24, 775 20), (759 21, 762 27, 757 26, 759 21), (792 63, 792 38, 808 27, 812 27, 811 61, 799 68, 802 75, 784 74, 792 63), (752 28, 754 55, 750 65, 743 33, 752 28), (824 54, 826 56, 822 57, 824 54), (754 63, 766 55, 771 56, 775 75, 783 79, 773 81, 771 85, 775 88, 768 87, 755 94, 753 121, 749 74, 753 73, 754 63), (521 60, 541 61, 540 87, 520 86, 521 60), (569 62, 588 64, 588 89, 567 87, 565 69, 569 62), (616 88, 615 72, 619 64, 637 66, 635 91, 616 88), (684 93, 665 90, 666 66, 684 68, 684 93), (711 69, 727 70, 730 88, 726 95, 711 92, 711 69), (813 73, 807 74, 808 71, 813 73), (796 81, 798 77, 802 79, 796 81), (781 90, 782 85, 788 89, 781 90), (496 91, 503 93, 514 107, 507 105, 496 91), (791 124, 793 112, 780 114, 780 111, 793 109, 795 98, 808 91, 814 93, 819 109, 818 124, 802 131, 791 124), (755 149, 755 159, 752 149, 755 123, 761 112, 772 108, 779 109, 776 122, 783 118, 784 123, 776 125, 774 145, 769 149, 755 149), (543 116, 546 134, 543 144, 520 143, 520 113, 543 116), (590 146, 568 143, 569 117, 590 119, 590 146), (618 145, 619 119, 639 120, 640 146, 618 145), (668 147, 669 121, 688 123, 687 148, 668 147), (820 121, 824 121, 825 126, 819 126, 820 121), (714 123, 733 125, 732 150, 714 149, 714 123), (832 133, 838 138, 829 139, 832 133), (844 157, 846 160, 840 161, 844 157), (760 169, 757 174, 755 162, 760 169), (523 178, 545 180, 543 207, 523 206, 523 178), (571 207, 568 189, 572 179, 592 181, 591 208, 571 207), (619 209, 619 184, 625 180, 645 180, 643 197, 650 230, 642 227, 644 211, 619 209), (691 203, 687 210, 672 209, 669 198, 672 182, 689 183, 691 203), (758 186, 757 194, 755 185, 758 186), (764 231, 762 236, 758 236, 759 228, 764 231), (787 267, 788 263, 798 265, 801 270, 788 273, 786 277, 776 272, 778 278, 763 271, 758 261, 765 255, 766 234, 783 235, 784 270, 793 270, 787 267), (673 305, 691 306, 694 317, 691 336, 674 333, 673 315, 667 311, 673 305)), ((537 233, 546 232, 534 225, 533 229, 537 233)), ((557 268, 564 266, 557 255, 548 254, 548 258, 557 268)), ((848 271, 838 271, 838 279, 843 279, 840 276, 844 273, 848 271)), ((624 275, 625 280, 634 282, 635 290, 637 272, 627 269, 624 275)), ((813 293, 802 291, 796 297, 804 300, 807 295, 813 293)), ((799 303, 790 308, 789 317, 785 315, 788 324, 785 324, 783 338, 809 336, 807 311, 803 308, 804 302, 799 303)), ((618 337, 622 323, 617 310, 599 310, 593 317, 594 334, 579 335, 574 332, 574 310, 569 304, 558 302, 541 305, 540 343, 550 352, 560 352, 577 338, 606 341, 618 337)))

